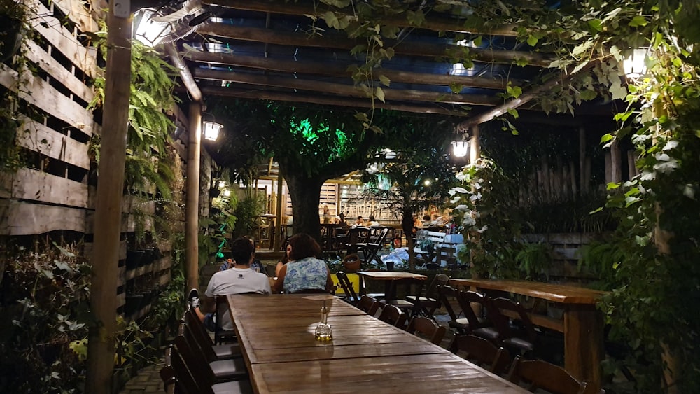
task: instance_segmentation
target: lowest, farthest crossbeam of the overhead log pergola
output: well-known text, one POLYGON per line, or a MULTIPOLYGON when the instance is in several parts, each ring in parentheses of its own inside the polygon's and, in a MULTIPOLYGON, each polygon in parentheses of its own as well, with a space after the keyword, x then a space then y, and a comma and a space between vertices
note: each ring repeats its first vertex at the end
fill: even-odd
MULTIPOLYGON (((272 92, 260 89, 242 89, 232 87, 202 87, 202 94, 205 96, 239 97, 241 99, 263 99, 272 101, 292 101, 310 104, 321 104, 330 106, 344 106, 351 108, 372 108, 369 99, 347 99, 343 97, 322 96, 320 94, 297 94, 286 92, 272 92)), ((424 105, 391 104, 374 101, 374 108, 391 109, 410 113, 437 113, 440 115, 465 116, 466 111, 457 106, 440 103, 426 103, 424 105)))

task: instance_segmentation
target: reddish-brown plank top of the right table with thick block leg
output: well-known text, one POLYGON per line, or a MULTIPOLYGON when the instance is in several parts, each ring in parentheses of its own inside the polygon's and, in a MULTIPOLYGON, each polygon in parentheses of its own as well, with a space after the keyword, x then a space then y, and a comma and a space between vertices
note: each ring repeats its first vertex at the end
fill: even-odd
POLYGON ((474 286, 489 290, 528 295, 561 304, 595 304, 604 291, 576 286, 558 285, 533 281, 500 281, 496 279, 452 278, 449 283, 455 286, 474 286))

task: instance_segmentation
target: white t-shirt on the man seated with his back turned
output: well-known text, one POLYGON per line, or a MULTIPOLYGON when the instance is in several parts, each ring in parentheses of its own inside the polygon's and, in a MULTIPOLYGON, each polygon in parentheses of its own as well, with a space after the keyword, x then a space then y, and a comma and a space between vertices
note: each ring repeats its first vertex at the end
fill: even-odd
MULTIPOLYGON (((267 275, 255 272, 251 268, 232 268, 219 271, 209 280, 209 286, 204 295, 214 298, 215 295, 260 293, 269 294, 269 280, 267 275)), ((224 308, 224 307, 222 307, 224 308)), ((231 315, 228 307, 219 311, 221 316, 221 328, 232 330, 231 315)))

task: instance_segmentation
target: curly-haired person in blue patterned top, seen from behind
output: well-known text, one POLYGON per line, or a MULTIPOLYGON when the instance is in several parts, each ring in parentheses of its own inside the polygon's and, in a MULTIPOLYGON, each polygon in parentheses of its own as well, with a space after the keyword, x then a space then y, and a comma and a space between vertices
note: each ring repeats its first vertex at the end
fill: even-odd
POLYGON ((320 255, 321 246, 309 234, 294 234, 287 244, 289 262, 277 263, 273 293, 297 293, 300 290, 325 290, 330 293, 333 280, 328 265, 318 259, 320 255))

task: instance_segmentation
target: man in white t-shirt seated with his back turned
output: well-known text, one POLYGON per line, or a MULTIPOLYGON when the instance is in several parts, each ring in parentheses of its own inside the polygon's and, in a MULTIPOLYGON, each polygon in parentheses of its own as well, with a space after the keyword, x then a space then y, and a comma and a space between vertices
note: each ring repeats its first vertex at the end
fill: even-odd
MULTIPOLYGON (((231 255, 236 262, 235 266, 231 269, 216 272, 216 274, 211 276, 207 291, 201 299, 202 309, 204 309, 204 311, 214 311, 216 307, 214 297, 216 295, 270 293, 267 275, 255 272, 255 270, 250 267, 254 258, 253 251, 253 243, 251 239, 247 237, 240 237, 231 243, 231 255)), ((196 289, 190 290, 188 301, 190 302, 190 308, 195 311, 200 320, 204 321, 204 325, 206 325, 209 330, 215 331, 216 324, 214 324, 214 321, 206 318, 206 316, 202 314, 200 298, 198 297, 196 289)), ((222 312, 223 313, 219 314, 219 316, 222 316, 222 321, 219 326, 223 328, 223 330, 232 330, 233 325, 228 308, 226 311, 222 312)))

